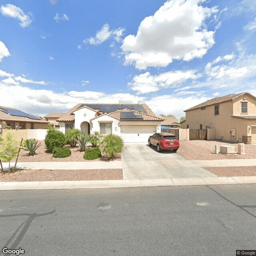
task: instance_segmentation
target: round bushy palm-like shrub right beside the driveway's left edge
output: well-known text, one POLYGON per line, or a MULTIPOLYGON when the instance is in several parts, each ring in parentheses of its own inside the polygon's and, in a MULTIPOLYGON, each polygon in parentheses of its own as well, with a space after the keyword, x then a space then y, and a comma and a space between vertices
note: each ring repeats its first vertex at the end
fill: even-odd
POLYGON ((124 142, 122 139, 114 134, 107 135, 101 142, 103 152, 113 159, 117 152, 122 152, 124 142))

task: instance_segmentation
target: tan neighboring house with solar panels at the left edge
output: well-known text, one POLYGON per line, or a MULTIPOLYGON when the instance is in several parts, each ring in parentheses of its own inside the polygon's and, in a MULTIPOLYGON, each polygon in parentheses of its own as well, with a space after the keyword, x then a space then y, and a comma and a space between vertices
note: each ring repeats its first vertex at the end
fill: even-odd
POLYGON ((16 108, 0 106, 0 124, 1 131, 4 129, 2 122, 6 122, 11 129, 44 129, 49 122, 41 119, 38 116, 27 114, 16 108))

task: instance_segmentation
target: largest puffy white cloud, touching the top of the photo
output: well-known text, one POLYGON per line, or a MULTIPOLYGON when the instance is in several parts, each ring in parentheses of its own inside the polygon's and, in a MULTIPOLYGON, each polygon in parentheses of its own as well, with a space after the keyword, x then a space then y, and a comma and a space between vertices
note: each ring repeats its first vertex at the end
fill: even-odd
POLYGON ((124 38, 125 64, 138 69, 165 67, 176 60, 201 58, 214 44, 214 31, 205 20, 217 13, 216 7, 199 5, 201 0, 169 0, 154 16, 142 20, 136 36, 124 38))

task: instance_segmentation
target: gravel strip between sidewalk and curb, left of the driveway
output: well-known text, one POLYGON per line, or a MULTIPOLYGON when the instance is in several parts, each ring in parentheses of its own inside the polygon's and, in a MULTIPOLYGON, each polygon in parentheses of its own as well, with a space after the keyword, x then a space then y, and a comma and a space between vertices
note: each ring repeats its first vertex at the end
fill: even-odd
POLYGON ((58 180, 122 180, 122 169, 98 170, 18 170, 1 173, 1 182, 58 180))

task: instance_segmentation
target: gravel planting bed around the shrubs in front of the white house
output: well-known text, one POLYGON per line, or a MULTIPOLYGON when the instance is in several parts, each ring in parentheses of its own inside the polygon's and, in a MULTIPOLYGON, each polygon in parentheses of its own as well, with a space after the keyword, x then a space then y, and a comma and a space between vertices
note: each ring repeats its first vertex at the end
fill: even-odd
MULTIPOLYGON (((102 157, 95 160, 85 160, 83 158, 84 152, 79 151, 79 145, 76 144, 75 148, 71 148, 70 145, 66 145, 64 147, 69 147, 71 150, 71 156, 64 158, 55 158, 52 157, 52 153, 46 152, 46 146, 44 140, 39 140, 39 143, 42 142, 40 147, 36 150, 36 154, 34 156, 29 156, 28 151, 21 149, 20 156, 18 158, 18 162, 87 162, 87 161, 109 161, 108 156, 102 153, 102 157)), ((86 148, 91 148, 92 146, 87 146, 86 148)), ((102 150, 101 150, 102 152, 102 150)), ((15 162, 16 159, 12 160, 15 162)), ((121 153, 117 153, 114 161, 121 161, 121 153)))

